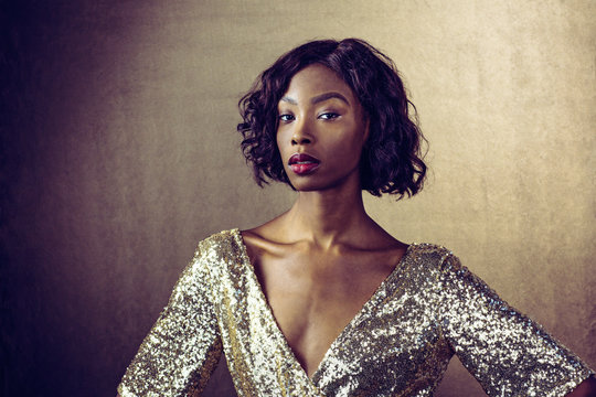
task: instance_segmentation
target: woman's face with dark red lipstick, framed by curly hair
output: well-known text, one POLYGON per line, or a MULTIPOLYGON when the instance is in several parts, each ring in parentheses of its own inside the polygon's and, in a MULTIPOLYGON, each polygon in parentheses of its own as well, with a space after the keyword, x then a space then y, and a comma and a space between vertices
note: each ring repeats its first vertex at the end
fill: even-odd
POLYGON ((294 75, 278 104, 277 147, 298 191, 360 186, 359 163, 368 124, 352 89, 320 64, 294 75))

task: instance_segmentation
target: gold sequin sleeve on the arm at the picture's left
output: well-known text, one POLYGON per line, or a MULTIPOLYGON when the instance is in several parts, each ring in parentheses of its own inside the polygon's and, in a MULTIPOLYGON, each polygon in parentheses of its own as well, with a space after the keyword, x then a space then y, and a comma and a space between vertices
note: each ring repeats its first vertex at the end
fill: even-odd
POLYGON ((198 248, 128 366, 118 386, 121 397, 200 394, 222 352, 211 293, 206 261, 198 248))

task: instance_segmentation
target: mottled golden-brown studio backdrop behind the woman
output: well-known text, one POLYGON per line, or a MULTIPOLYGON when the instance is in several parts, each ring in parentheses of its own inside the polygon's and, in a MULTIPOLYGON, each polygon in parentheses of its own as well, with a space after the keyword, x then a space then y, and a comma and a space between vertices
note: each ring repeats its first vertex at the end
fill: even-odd
MULTIPOLYGON (((329 36, 394 58, 430 141, 427 189, 371 214, 596 365, 596 2, 2 4, 4 395, 113 396, 198 240, 290 205, 252 182, 236 101, 329 36)), ((482 391, 454 362, 460 395, 482 391)))

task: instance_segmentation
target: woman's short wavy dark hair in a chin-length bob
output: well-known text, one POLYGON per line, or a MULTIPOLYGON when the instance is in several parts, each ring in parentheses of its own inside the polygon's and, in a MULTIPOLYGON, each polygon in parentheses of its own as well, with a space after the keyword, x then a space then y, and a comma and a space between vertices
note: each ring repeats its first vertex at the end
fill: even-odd
POLYGON ((360 160, 362 190, 375 196, 395 194, 398 200, 421 191, 426 175, 421 146, 426 139, 416 108, 393 61, 360 39, 305 43, 281 55, 241 98, 241 148, 257 184, 274 180, 291 186, 277 148, 277 106, 294 75, 311 64, 336 72, 364 109, 370 133, 360 160))

